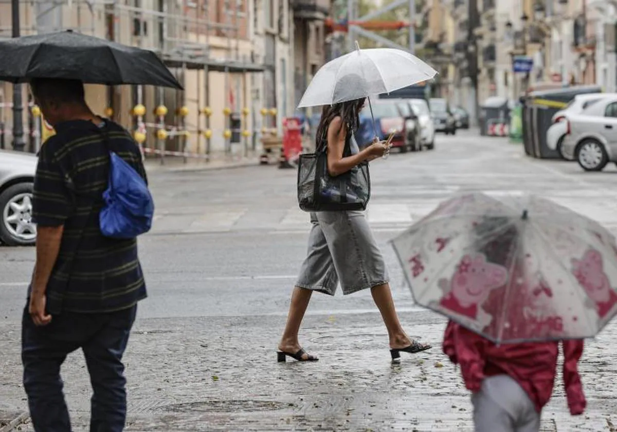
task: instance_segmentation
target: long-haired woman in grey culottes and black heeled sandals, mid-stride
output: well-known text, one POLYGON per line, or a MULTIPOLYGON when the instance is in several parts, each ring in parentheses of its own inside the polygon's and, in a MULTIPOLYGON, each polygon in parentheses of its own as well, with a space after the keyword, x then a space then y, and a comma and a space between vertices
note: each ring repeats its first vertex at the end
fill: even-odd
MULTIPOLYGON (((375 142, 362 151, 354 138, 358 113, 365 98, 325 106, 317 128, 318 144, 327 141, 328 172, 336 177, 366 160, 384 155, 387 147, 375 142), (344 149, 349 148, 344 157, 344 149)), ((312 212, 309 251, 291 296, 287 324, 279 343, 278 361, 286 357, 299 361, 318 360, 298 340, 298 332, 313 291, 334 295, 337 283, 343 294, 370 289, 387 328, 392 359, 400 352, 416 353, 431 348, 412 341, 400 325, 388 283, 386 264, 373 233, 360 211, 312 212)))

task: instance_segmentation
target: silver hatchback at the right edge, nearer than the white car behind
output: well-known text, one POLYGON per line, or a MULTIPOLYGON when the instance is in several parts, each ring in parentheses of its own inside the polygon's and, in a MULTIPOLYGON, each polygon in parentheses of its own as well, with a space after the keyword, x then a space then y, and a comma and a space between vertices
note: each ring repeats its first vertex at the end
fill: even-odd
POLYGON ((568 115, 561 152, 586 171, 602 171, 608 162, 617 162, 617 94, 568 115))

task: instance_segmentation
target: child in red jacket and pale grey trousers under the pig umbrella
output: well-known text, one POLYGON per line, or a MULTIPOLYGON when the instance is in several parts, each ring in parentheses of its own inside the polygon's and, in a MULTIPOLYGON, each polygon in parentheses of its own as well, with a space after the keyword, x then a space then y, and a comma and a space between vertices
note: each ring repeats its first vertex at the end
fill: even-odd
MULTIPOLYGON (((444 354, 459 364, 472 392, 476 432, 537 432, 540 413, 553 393, 558 342, 495 345, 450 321, 444 334, 444 354)), ((577 363, 582 340, 561 342, 563 381, 572 415, 586 406, 577 363)))

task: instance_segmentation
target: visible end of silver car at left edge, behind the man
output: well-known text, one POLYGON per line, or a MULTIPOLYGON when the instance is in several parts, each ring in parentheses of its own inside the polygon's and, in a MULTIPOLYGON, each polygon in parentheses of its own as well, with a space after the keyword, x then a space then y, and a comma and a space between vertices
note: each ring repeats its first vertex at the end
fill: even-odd
POLYGON ((32 186, 37 160, 31 153, 0 150, 0 243, 9 246, 35 243, 32 186))

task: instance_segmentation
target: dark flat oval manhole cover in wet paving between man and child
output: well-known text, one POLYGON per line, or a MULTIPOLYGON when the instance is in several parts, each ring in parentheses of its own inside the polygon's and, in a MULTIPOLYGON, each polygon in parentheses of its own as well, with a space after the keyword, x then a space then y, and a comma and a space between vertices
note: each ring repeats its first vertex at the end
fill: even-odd
POLYGON ((293 406, 284 402, 276 401, 200 401, 186 402, 184 404, 161 405, 154 411, 164 412, 255 412, 282 410, 293 406))

